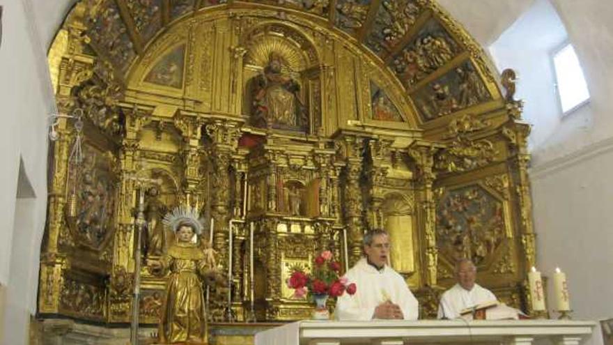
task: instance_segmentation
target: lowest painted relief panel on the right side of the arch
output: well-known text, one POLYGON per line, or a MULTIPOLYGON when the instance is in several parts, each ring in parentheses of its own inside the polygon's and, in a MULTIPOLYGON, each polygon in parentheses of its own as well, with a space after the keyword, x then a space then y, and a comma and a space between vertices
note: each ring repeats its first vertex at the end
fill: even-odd
POLYGON ((431 121, 491 100, 492 96, 472 62, 467 61, 413 93, 413 99, 424 121, 431 121))

